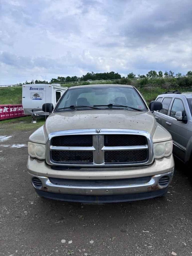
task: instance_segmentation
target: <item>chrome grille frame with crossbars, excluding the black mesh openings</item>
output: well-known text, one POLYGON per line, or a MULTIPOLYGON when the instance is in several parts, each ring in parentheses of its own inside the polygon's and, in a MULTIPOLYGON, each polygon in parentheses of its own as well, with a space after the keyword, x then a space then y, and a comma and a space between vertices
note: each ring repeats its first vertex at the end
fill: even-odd
POLYGON ((110 167, 110 166, 139 166, 149 165, 154 161, 153 158, 153 141, 150 133, 141 130, 130 130, 130 129, 101 129, 101 132, 96 133, 95 129, 77 129, 77 130, 64 130, 50 133, 46 142, 46 162, 48 165, 59 165, 59 166, 82 166, 82 167, 110 167), (64 135, 93 135, 93 146, 91 147, 63 147, 63 146, 52 146, 51 140, 53 137, 64 136, 64 135), (146 145, 138 146, 104 146, 104 135, 105 134, 124 134, 124 135, 142 135, 146 137, 146 145), (146 161, 141 162, 128 162, 128 163, 105 163, 105 152, 106 151, 125 151, 125 150, 148 150, 148 158, 146 161), (52 150, 63 150, 63 151, 92 151, 93 152, 93 163, 73 163, 73 162, 55 162, 51 158, 52 150))

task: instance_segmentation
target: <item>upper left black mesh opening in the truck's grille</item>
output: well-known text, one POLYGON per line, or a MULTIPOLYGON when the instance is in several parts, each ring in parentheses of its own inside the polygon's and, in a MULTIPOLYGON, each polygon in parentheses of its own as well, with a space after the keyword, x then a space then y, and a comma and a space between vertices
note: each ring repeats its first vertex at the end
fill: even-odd
POLYGON ((91 147, 93 146, 93 137, 90 134, 57 136, 52 139, 51 145, 62 147, 91 147))

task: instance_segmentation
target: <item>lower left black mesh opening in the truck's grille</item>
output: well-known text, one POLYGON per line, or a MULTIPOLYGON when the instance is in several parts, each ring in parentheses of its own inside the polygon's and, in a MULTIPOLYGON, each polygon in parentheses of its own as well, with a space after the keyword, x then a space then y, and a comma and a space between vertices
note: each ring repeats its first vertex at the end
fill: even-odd
POLYGON ((91 152, 91 151, 52 150, 51 158, 55 162, 92 163, 93 162, 93 152, 91 152))

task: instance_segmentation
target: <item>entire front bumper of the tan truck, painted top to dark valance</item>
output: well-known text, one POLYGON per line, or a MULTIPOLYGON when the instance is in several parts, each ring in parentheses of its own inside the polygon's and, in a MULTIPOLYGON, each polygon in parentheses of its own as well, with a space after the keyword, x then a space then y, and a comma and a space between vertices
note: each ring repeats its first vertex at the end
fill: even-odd
POLYGON ((45 161, 29 157, 27 168, 32 185, 43 197, 76 202, 122 202, 165 194, 173 178, 174 160, 171 155, 156 159, 149 166, 91 171, 53 170, 45 161), (42 175, 45 169, 46 175, 42 175))

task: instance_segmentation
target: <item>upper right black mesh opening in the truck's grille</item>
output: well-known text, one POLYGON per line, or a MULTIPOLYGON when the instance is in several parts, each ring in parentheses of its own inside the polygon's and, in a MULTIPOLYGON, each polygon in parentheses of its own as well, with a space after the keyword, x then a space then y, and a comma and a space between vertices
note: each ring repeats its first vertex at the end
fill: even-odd
POLYGON ((104 136, 104 145, 109 147, 139 146, 146 144, 146 137, 142 135, 107 134, 104 136))

